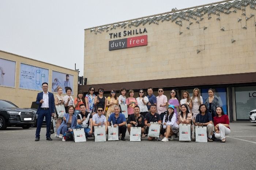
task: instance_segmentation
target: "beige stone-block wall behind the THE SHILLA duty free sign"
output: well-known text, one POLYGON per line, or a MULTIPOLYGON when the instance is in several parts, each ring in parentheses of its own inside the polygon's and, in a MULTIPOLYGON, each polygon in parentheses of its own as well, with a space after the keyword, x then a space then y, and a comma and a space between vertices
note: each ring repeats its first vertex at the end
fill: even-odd
MULTIPOLYGON (((256 16, 255 9, 249 6, 245 7, 246 16, 256 16)), ((147 23, 125 29, 120 26, 97 35, 87 29, 84 40, 84 77, 88 78, 87 84, 255 72, 255 16, 246 21, 242 15, 244 11, 236 11, 229 15, 222 12, 220 16, 211 14, 209 20, 206 13, 199 24, 189 18, 193 22, 190 26, 188 21, 182 19, 182 26, 175 24, 175 21, 160 20, 158 25, 147 23), (237 22, 238 18, 242 21, 237 22), (242 28, 245 25, 247 29, 242 28), (110 39, 109 33, 144 27, 147 33, 110 39), (204 27, 207 29, 204 30, 204 27), (221 31, 222 27, 225 31, 221 31), (183 33, 180 35, 179 32, 183 33), (147 46, 108 49, 110 40, 139 35, 148 36, 147 46), (231 43, 231 39, 236 42, 231 43), (197 50, 201 52, 197 54, 197 50)), ((197 20, 200 18, 197 17, 197 20)))

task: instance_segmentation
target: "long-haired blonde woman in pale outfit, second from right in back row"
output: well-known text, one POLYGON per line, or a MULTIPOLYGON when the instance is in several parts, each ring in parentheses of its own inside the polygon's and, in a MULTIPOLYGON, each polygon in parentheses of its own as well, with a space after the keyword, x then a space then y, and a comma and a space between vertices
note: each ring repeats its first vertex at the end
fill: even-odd
POLYGON ((200 96, 200 91, 198 88, 195 88, 193 90, 193 96, 191 97, 192 100, 192 115, 193 119, 196 117, 196 115, 199 113, 199 106, 200 104, 203 104, 203 97, 200 96))

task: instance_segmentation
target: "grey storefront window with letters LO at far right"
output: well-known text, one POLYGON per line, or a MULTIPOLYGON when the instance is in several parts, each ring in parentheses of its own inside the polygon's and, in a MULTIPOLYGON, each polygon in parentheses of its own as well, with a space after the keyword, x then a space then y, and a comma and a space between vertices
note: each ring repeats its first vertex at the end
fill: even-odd
POLYGON ((249 120, 250 111, 256 109, 256 86, 236 87, 236 118, 249 120))

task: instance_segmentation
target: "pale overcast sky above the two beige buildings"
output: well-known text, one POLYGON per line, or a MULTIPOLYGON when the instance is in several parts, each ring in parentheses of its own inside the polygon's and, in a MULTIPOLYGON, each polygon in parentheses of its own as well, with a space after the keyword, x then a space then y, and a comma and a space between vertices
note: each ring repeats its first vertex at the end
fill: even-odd
MULTIPOLYGON (((214 0, 0 0, 0 50, 83 76, 84 29, 214 0)), ((1 56, 0 56, 1 58, 1 56)))

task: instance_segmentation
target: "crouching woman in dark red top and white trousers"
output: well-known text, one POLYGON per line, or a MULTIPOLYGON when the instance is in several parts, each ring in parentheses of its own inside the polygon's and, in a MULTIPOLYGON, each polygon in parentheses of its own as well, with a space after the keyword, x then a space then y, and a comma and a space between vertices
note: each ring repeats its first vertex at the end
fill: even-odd
POLYGON ((221 143, 226 142, 225 135, 230 134, 229 128, 229 116, 225 115, 222 107, 216 108, 217 115, 213 118, 214 130, 215 130, 215 138, 221 140, 221 143))

